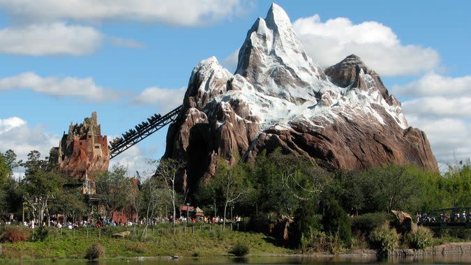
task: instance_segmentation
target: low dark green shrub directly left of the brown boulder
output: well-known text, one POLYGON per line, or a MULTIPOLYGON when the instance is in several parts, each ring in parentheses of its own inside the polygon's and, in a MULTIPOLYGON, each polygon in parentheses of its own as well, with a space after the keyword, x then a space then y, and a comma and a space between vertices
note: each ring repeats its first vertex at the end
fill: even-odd
POLYGON ((352 232, 357 235, 368 237, 376 227, 380 227, 384 222, 392 220, 392 215, 388 213, 366 213, 352 218, 352 232))

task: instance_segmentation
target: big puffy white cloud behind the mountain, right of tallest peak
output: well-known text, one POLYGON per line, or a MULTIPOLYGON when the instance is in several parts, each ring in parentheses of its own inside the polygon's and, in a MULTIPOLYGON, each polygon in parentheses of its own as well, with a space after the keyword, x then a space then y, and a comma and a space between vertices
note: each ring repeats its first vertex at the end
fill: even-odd
POLYGON ((378 22, 353 24, 345 17, 322 22, 313 15, 299 18, 293 26, 307 54, 323 67, 357 54, 380 75, 416 75, 440 61, 435 50, 403 45, 391 28, 378 22))

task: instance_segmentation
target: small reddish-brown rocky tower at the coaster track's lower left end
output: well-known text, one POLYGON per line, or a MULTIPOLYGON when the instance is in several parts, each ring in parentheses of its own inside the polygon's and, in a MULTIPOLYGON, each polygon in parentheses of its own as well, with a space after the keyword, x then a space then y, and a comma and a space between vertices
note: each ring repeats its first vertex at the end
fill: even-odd
POLYGON ((81 124, 70 123, 68 134, 64 133, 50 157, 64 173, 75 179, 93 182, 94 174, 107 171, 110 150, 107 136, 101 135, 96 112, 81 124))

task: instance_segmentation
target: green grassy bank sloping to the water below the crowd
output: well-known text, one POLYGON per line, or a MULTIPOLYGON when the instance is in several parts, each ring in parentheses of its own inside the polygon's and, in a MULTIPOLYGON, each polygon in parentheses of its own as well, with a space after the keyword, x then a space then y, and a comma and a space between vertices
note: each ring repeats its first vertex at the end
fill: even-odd
MULTIPOLYGON (((168 225, 149 227, 142 236, 143 227, 107 227, 103 229, 53 229, 44 241, 2 243, 1 259, 83 259, 87 249, 94 244, 105 248, 106 257, 155 256, 223 256, 237 242, 250 246, 251 255, 291 254, 292 250, 274 245, 264 234, 251 232, 225 232, 219 225, 179 225, 176 234, 168 225), (114 239, 112 234, 129 231, 125 239, 114 239)), ((0 262, 1 263, 1 262, 0 262)))

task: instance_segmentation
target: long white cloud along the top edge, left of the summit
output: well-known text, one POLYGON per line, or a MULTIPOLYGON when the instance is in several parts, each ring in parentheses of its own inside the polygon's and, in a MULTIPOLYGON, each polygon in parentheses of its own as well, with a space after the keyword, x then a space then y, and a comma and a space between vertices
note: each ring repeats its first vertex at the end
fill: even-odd
POLYGON ((241 0, 0 0, 0 6, 18 20, 103 21, 139 20, 178 26, 208 24, 244 12, 241 0))

